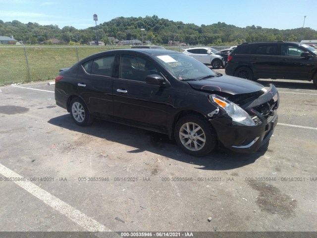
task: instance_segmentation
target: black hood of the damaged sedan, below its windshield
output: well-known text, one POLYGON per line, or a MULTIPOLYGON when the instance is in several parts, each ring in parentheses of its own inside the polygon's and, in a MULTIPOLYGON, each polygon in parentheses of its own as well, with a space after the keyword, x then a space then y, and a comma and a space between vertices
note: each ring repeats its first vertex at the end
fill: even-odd
POLYGON ((220 77, 212 77, 210 79, 187 81, 188 84, 197 90, 210 92, 225 92, 232 95, 253 93, 264 88, 263 85, 248 79, 222 75, 220 77))

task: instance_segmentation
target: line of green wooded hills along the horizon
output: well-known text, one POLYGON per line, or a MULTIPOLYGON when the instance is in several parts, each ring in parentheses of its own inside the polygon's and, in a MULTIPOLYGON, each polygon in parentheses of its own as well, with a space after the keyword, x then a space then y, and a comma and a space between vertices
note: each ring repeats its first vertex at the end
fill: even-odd
MULTIPOLYGON (((317 39, 317 31, 311 28, 295 28, 278 30, 261 26, 246 26, 244 28, 217 22, 211 25, 197 26, 182 21, 171 21, 159 18, 157 15, 146 17, 116 17, 97 26, 99 40, 110 42, 108 37, 119 41, 143 40, 156 45, 167 45, 169 41, 187 45, 231 46, 254 41, 292 41, 317 39), (144 29, 144 30, 141 30, 144 29)), ((3 22, 0 20, 0 36, 14 36, 14 39, 24 44, 38 44, 56 38, 69 43, 86 44, 96 40, 96 26, 86 29, 76 29, 57 25, 40 25, 35 22, 27 24, 17 20, 3 22)), ((110 38, 110 39, 113 39, 110 38)))

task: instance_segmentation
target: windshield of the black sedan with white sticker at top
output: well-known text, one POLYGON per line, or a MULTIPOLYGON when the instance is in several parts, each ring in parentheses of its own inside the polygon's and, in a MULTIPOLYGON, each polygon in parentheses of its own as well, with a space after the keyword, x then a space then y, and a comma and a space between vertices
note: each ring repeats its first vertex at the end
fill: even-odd
POLYGON ((179 80, 201 80, 218 76, 205 64, 185 54, 159 55, 156 59, 179 80))

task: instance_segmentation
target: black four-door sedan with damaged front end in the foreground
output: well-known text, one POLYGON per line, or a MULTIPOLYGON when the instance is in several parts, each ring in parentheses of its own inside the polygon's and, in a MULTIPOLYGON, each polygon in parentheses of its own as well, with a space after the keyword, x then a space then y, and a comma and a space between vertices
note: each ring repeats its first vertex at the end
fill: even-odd
POLYGON ((59 72, 56 104, 78 125, 94 118, 166 133, 188 154, 216 147, 255 152, 277 123, 279 97, 185 54, 158 49, 102 52, 59 72))

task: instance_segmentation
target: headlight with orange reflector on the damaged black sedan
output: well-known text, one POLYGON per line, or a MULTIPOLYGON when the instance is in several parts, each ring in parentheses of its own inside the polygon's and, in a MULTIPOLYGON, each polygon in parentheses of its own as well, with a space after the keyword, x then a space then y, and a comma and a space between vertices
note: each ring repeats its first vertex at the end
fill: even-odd
POLYGON ((215 94, 212 94, 210 97, 216 105, 219 105, 222 109, 224 109, 224 111, 226 111, 228 116, 232 118, 234 122, 249 126, 256 125, 249 114, 235 103, 215 94))

